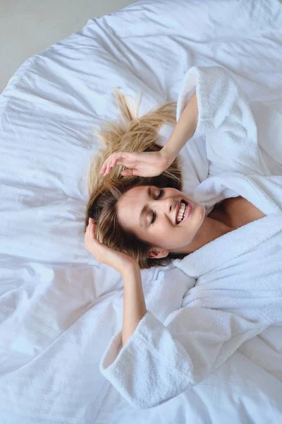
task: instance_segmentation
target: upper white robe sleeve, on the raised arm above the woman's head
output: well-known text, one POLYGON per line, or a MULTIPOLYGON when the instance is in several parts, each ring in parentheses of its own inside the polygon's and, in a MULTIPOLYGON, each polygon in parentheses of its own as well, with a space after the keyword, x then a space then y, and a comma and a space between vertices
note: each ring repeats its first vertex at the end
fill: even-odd
POLYGON ((209 175, 268 174, 259 151, 252 110, 228 71, 221 66, 192 66, 185 74, 178 96, 177 120, 195 92, 198 121, 192 138, 206 138, 209 175))

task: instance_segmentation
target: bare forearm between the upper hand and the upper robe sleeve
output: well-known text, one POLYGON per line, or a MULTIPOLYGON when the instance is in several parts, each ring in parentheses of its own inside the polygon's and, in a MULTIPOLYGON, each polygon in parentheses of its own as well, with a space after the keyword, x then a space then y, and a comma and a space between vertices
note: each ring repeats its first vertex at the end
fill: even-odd
POLYGON ((180 114, 176 127, 173 129, 168 141, 161 151, 170 158, 170 162, 176 158, 185 143, 192 137, 197 128, 198 105, 197 95, 194 93, 185 109, 180 114))

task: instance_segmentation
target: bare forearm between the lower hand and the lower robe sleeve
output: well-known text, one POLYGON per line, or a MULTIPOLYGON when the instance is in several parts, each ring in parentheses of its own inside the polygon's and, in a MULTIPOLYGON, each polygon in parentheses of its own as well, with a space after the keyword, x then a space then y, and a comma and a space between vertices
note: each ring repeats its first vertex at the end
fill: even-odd
POLYGON ((141 271, 132 266, 123 273, 123 346, 134 333, 140 319, 147 312, 141 280, 141 271))

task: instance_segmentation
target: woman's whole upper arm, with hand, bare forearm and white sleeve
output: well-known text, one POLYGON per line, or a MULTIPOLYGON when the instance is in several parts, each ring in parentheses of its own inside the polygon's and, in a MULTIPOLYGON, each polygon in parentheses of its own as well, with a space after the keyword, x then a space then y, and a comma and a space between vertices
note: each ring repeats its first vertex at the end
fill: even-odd
POLYGON ((109 155, 101 173, 116 165, 129 169, 121 175, 153 177, 164 172, 193 137, 205 136, 209 176, 223 172, 268 175, 259 160, 257 126, 245 96, 221 66, 192 66, 186 73, 177 102, 176 126, 159 152, 109 155))

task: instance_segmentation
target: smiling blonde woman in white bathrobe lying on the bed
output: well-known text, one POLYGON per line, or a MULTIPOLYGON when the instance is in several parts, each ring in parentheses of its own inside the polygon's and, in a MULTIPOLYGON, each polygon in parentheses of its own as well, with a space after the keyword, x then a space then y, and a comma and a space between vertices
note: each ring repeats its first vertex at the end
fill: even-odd
POLYGON ((250 107, 219 66, 186 73, 177 116, 159 151, 117 149, 100 158, 101 176, 123 165, 121 175, 144 178, 97 183, 102 189, 95 187, 87 208, 85 247, 124 281, 123 329, 100 370, 142 408, 202 381, 248 338, 282 322, 282 172, 271 173, 274 163, 282 170, 282 156, 271 157, 266 142, 259 149, 250 107), (173 179, 145 179, 171 165, 177 179, 180 149, 202 135, 209 175, 192 196, 173 179), (97 228, 90 216, 103 217, 97 228), (140 269, 167 257, 194 280, 185 307, 162 324, 147 311, 140 269))

